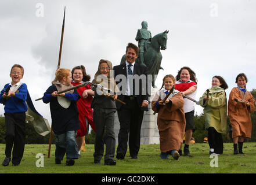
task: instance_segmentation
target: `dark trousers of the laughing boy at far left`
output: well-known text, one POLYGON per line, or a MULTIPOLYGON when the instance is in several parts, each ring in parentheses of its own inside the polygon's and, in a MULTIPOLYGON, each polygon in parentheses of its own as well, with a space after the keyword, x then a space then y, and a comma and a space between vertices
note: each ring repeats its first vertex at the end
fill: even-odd
POLYGON ((20 164, 25 147, 25 113, 5 113, 5 156, 11 157, 12 163, 20 164), (12 151, 13 148, 13 151, 12 151))

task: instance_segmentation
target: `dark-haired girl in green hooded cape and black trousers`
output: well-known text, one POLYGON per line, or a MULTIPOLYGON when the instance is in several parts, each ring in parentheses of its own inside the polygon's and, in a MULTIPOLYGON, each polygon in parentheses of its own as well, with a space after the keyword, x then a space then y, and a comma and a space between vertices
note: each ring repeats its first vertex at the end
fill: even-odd
POLYGON ((228 84, 223 77, 214 76, 212 77, 212 87, 206 90, 200 98, 200 105, 204 108, 210 154, 223 153, 221 134, 226 132, 227 99, 225 89, 227 88, 228 84))

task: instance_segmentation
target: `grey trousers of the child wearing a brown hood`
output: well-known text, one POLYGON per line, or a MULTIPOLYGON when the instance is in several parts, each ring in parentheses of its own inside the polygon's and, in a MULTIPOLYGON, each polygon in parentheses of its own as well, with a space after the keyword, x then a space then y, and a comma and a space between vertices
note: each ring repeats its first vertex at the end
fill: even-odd
POLYGON ((106 154, 104 160, 114 158, 116 150, 116 138, 114 134, 114 113, 116 109, 93 109, 93 121, 96 128, 96 138, 94 144, 94 159, 100 161, 104 154, 104 144, 106 154), (105 132, 106 131, 106 132, 105 132))

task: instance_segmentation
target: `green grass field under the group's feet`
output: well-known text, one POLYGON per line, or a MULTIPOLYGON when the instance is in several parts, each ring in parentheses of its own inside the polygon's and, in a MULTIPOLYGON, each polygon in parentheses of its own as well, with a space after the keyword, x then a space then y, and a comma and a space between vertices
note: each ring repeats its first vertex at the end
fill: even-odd
MULTIPOLYGON (((161 160, 159 145, 141 145, 139 159, 132 160, 129 153, 125 160, 117 160, 116 166, 93 164, 94 145, 86 145, 86 152, 75 160, 74 166, 55 164, 55 145, 52 145, 51 158, 47 158, 48 145, 26 145, 23 159, 19 166, 2 166, 5 158, 5 145, 0 144, 0 173, 255 173, 256 143, 244 143, 244 153, 233 155, 233 143, 224 143, 223 154, 218 156, 218 167, 211 167, 209 146, 207 143, 190 145, 190 157, 181 156, 174 160, 161 160), (38 153, 44 154, 44 167, 37 167, 38 153)), ((214 163, 216 164, 216 163, 214 163)))

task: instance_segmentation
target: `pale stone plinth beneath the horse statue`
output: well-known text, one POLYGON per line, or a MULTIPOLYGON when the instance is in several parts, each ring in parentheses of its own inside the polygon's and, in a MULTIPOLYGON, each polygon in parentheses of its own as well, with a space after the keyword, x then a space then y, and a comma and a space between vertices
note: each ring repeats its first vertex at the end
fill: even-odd
MULTIPOLYGON (((149 111, 144 112, 142 121, 142 128, 140 130, 140 144, 159 144, 159 132, 157 128, 157 114, 153 114, 154 111, 151 108, 151 102, 154 98, 157 88, 151 88, 151 97, 149 99, 149 111)), ((117 112, 115 114, 114 132, 116 135, 116 144, 118 144, 118 133, 120 129, 120 123, 118 120, 117 112)))

